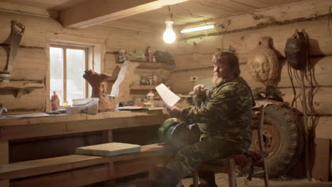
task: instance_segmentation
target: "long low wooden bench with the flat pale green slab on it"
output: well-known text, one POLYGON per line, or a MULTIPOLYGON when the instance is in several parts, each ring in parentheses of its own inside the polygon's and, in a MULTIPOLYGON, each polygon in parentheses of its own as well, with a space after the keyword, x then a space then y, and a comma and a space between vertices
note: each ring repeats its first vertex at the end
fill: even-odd
POLYGON ((148 171, 153 178, 157 164, 171 156, 169 147, 146 145, 141 152, 114 157, 72 154, 0 165, 0 180, 11 180, 10 186, 83 186, 148 171))

